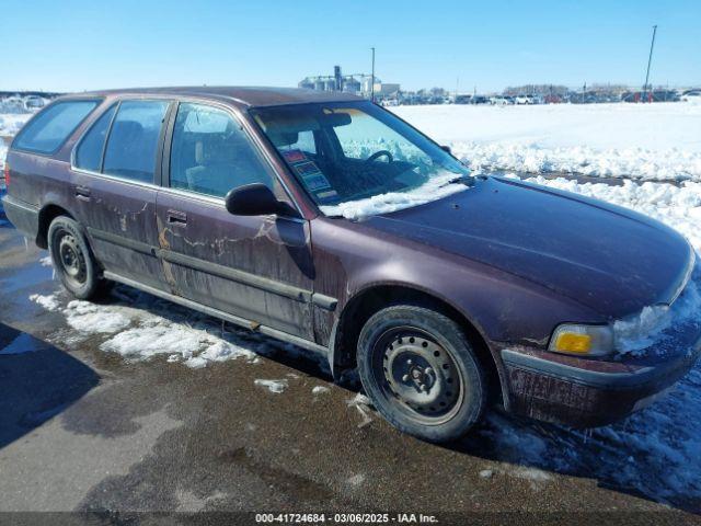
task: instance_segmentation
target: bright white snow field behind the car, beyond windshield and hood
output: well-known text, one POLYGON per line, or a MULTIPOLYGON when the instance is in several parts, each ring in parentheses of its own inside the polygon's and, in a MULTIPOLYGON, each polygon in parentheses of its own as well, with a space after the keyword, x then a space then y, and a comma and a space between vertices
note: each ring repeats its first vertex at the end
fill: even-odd
POLYGON ((392 108, 472 169, 701 181, 701 105, 392 108))

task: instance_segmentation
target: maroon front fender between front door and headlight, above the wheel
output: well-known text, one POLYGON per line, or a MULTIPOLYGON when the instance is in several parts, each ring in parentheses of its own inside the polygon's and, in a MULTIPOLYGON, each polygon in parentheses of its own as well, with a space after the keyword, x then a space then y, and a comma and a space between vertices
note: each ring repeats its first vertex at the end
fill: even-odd
POLYGON ((332 355, 347 307, 378 287, 418 290, 451 306, 492 351, 493 342, 545 347, 562 322, 606 321, 541 285, 361 222, 315 219, 312 240, 318 271, 314 290, 338 299, 333 316, 315 320, 332 355))

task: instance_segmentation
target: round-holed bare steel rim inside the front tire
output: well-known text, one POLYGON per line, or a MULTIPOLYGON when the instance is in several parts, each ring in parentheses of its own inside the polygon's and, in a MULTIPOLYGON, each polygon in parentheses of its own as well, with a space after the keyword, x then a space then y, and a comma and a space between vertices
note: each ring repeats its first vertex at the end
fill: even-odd
POLYGON ((386 400, 421 424, 443 424, 462 405, 463 378, 455 356, 421 329, 384 332, 374 346, 374 365, 386 400))

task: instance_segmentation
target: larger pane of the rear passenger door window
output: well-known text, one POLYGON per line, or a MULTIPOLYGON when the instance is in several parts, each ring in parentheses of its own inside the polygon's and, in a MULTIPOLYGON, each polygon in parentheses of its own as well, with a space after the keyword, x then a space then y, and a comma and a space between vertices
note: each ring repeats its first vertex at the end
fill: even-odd
POLYGON ((158 140, 166 101, 125 101, 112 124, 103 173, 153 182, 158 140))

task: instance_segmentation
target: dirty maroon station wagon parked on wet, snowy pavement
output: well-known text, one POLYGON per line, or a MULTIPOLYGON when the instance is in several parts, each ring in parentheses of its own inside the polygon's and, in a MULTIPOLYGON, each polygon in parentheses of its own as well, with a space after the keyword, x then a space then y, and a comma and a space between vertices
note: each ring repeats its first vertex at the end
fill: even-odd
POLYGON ((493 402, 604 425, 699 354, 696 322, 635 353, 617 329, 689 294, 696 259, 679 233, 595 199, 472 176, 356 96, 62 96, 15 137, 5 171, 9 219, 50 250, 76 297, 118 282, 321 353, 335 378, 357 369, 378 411, 427 441, 459 437, 493 402))

